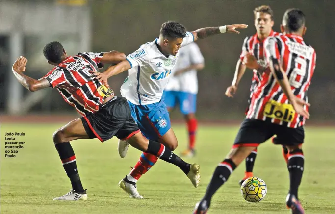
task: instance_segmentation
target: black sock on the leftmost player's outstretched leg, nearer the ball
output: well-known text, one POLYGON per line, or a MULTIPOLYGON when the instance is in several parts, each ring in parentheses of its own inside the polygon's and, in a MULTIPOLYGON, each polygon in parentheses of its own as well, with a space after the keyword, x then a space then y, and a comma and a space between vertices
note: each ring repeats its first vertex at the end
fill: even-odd
POLYGON ((185 174, 190 171, 190 164, 183 161, 180 157, 174 154, 169 148, 163 144, 149 140, 147 153, 157 156, 163 161, 169 162, 178 166, 185 174))

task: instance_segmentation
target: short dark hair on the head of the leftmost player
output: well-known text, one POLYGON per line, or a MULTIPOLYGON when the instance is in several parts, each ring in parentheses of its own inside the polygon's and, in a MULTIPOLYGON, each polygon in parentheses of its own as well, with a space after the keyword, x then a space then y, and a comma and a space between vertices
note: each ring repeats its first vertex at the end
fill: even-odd
POLYGON ((45 58, 54 63, 61 63, 63 61, 64 48, 60 42, 49 42, 43 48, 43 55, 45 58))

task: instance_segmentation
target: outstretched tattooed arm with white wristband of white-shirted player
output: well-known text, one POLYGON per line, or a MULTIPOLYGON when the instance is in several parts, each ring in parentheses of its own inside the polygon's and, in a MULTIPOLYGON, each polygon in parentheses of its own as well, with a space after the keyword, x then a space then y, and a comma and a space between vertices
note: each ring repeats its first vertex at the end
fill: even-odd
POLYGON ((245 29, 248 25, 246 24, 232 24, 227 26, 221 26, 221 27, 205 27, 198 29, 196 31, 191 32, 194 36, 194 41, 198 39, 205 39, 209 36, 213 36, 220 33, 236 33, 239 34, 235 29, 245 29))

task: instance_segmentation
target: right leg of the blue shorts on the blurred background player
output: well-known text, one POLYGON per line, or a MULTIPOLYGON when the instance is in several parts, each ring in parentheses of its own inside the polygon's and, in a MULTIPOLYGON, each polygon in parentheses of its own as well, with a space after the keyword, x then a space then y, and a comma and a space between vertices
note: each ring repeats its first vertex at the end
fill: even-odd
POLYGON ((194 114, 196 111, 197 95, 188 92, 178 92, 177 99, 180 103, 180 112, 183 115, 194 114))

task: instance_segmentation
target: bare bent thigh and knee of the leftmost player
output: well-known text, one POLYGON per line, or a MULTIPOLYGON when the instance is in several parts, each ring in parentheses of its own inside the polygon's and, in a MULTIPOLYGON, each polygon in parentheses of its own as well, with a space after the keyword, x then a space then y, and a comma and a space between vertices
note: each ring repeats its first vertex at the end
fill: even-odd
POLYGON ((77 139, 90 138, 83 125, 82 119, 72 120, 65 126, 59 128, 53 133, 54 143, 69 142, 77 139))

